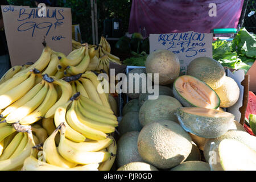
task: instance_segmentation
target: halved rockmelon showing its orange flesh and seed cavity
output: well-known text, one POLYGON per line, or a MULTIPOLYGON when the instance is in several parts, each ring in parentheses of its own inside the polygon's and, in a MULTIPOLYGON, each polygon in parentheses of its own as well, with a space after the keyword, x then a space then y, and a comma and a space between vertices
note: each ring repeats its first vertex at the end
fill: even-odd
POLYGON ((177 78, 172 92, 185 107, 217 109, 220 106, 220 98, 216 92, 193 76, 183 75, 177 78))

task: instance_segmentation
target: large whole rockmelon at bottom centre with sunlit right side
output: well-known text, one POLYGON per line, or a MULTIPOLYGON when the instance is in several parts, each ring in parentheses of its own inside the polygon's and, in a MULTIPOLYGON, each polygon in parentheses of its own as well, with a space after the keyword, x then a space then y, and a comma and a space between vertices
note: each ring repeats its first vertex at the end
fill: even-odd
POLYGON ((191 149, 191 137, 174 121, 149 123, 139 133, 139 154, 144 162, 156 168, 168 169, 181 164, 191 149))

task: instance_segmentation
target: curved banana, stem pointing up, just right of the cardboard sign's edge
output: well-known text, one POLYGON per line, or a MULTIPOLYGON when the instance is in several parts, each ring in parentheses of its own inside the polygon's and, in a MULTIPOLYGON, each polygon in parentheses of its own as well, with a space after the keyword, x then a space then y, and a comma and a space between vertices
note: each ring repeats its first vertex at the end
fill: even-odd
POLYGON ((77 75, 79 73, 84 73, 86 71, 86 68, 88 67, 90 63, 90 56, 88 51, 88 44, 85 46, 85 55, 82 58, 81 62, 77 64, 76 66, 68 66, 66 68, 66 71, 69 73, 69 75, 77 75))

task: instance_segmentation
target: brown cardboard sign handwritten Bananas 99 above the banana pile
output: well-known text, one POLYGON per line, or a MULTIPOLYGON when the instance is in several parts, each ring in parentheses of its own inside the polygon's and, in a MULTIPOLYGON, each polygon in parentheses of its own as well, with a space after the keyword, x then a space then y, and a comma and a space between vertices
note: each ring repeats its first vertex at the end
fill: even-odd
POLYGON ((45 7, 45 17, 38 15, 40 8, 1 6, 1 10, 11 66, 38 60, 44 38, 54 51, 65 55, 72 51, 70 8, 45 7))

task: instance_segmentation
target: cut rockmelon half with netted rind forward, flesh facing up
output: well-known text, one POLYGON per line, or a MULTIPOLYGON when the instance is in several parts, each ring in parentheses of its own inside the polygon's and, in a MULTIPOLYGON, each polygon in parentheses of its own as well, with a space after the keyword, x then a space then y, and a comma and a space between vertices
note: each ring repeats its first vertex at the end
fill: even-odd
POLYGON ((180 107, 176 115, 185 131, 203 138, 220 137, 234 121, 231 113, 204 107, 180 107))

